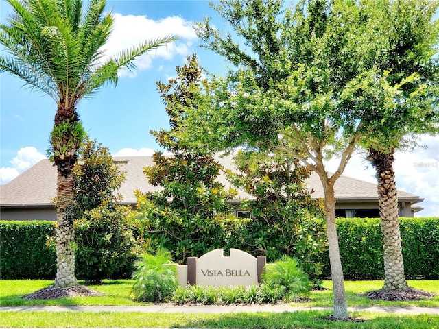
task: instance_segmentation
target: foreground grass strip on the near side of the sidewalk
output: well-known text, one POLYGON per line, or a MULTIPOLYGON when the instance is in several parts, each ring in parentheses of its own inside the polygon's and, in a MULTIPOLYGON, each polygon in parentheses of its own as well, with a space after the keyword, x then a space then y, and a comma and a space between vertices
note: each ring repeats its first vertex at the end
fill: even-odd
POLYGON ((438 315, 382 315, 355 312, 364 322, 329 321, 329 312, 157 314, 112 312, 2 312, 1 328, 166 327, 166 328, 439 328, 438 315))

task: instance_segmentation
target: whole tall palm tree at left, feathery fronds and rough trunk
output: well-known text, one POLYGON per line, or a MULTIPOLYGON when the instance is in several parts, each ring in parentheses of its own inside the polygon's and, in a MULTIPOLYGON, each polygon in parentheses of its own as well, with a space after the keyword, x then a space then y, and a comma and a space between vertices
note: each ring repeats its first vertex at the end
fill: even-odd
POLYGON ((114 58, 104 57, 103 45, 114 19, 104 14, 105 0, 91 0, 83 14, 82 0, 7 0, 14 14, 0 24, 0 42, 7 53, 0 56, 0 73, 8 72, 56 101, 50 150, 58 169, 57 271, 55 287, 70 287, 75 278, 73 215, 73 165, 84 138, 76 106, 106 82, 117 84, 123 67, 134 69, 134 60, 176 36, 147 41, 114 58))

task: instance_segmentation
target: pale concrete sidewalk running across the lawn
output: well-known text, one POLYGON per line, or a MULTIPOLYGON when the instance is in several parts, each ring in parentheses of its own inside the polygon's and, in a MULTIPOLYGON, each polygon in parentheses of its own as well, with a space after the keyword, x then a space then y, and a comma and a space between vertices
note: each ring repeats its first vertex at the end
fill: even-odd
MULTIPOLYGON (((7 306, 1 307, 0 312, 139 312, 139 313, 255 313, 255 312, 300 312, 304 310, 332 310, 330 307, 306 307, 280 305, 252 306, 178 306, 160 304, 152 306, 7 306)), ((434 314, 439 315, 439 307, 348 307, 349 312, 367 311, 392 314, 434 314)))

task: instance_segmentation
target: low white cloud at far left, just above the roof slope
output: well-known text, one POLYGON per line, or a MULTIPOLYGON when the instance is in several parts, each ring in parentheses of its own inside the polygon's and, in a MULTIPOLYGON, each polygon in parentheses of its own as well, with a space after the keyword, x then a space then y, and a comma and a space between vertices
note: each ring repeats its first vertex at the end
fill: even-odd
POLYGON ((0 168, 0 184, 6 184, 16 178, 23 171, 32 167, 36 162, 46 158, 33 146, 22 147, 15 158, 10 160, 12 167, 0 168))

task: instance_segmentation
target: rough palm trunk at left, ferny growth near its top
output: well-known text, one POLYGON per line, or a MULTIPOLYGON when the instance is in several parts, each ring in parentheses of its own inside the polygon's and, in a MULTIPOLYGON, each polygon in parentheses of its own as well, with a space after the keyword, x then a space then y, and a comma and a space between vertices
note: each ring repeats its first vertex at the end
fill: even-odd
POLYGON ((82 135, 73 132, 80 125, 75 108, 58 106, 51 147, 58 170, 56 186, 56 279, 54 287, 65 288, 78 284, 75 276, 73 215, 73 166, 78 159, 82 135), (57 129, 59 125, 67 129, 57 129), (69 141, 71 143, 69 143, 69 141), (71 145, 71 146, 67 146, 71 145))

